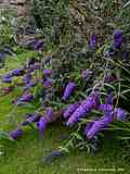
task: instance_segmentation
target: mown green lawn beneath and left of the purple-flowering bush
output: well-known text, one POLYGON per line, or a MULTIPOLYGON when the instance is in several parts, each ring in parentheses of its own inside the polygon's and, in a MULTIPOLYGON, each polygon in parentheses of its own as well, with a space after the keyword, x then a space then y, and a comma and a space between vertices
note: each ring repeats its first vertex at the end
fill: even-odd
MULTIPOLYGON (((9 67, 5 71, 21 66, 26 58, 31 57, 32 52, 21 53, 15 59, 8 59, 9 67)), ((4 70, 0 71, 2 75, 4 70)), ((18 89, 14 92, 0 97, 0 130, 10 130, 15 128, 27 112, 32 109, 18 108, 11 115, 13 109, 12 99, 18 95, 18 89)), ((50 125, 43 139, 39 139, 37 129, 27 127, 24 129, 24 136, 16 142, 4 141, 4 154, 0 156, 0 174, 129 174, 129 164, 120 159, 119 142, 107 135, 103 141, 101 152, 88 154, 87 151, 72 151, 69 156, 63 157, 52 164, 43 163, 48 151, 62 145, 60 135, 68 135, 69 130, 62 123, 50 125), (106 171, 87 171, 78 172, 78 169, 94 170, 105 169, 106 171), (107 171, 112 169, 123 169, 121 171, 107 171)))

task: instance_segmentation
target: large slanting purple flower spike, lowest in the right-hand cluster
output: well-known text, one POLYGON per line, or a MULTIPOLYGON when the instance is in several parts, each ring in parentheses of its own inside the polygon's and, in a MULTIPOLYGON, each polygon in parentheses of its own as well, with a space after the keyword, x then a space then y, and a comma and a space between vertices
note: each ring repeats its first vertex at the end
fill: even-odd
POLYGON ((100 120, 93 122, 93 124, 89 125, 86 128, 87 138, 92 139, 102 128, 109 125, 113 119, 113 113, 107 113, 105 116, 100 120))

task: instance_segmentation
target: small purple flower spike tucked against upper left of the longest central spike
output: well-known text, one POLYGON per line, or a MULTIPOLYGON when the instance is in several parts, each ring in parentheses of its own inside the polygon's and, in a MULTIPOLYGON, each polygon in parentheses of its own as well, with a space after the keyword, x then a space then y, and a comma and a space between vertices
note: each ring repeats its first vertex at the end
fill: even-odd
POLYGON ((64 119, 69 117, 74 113, 74 111, 79 107, 79 104, 80 103, 69 104, 68 108, 63 113, 64 119))

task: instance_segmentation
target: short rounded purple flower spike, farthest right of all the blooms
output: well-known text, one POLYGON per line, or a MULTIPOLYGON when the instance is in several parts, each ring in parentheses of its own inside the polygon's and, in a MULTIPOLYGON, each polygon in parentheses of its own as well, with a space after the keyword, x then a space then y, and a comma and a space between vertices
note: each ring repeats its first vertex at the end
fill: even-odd
POLYGON ((126 121, 128 112, 122 110, 121 108, 115 109, 115 115, 118 121, 126 121))

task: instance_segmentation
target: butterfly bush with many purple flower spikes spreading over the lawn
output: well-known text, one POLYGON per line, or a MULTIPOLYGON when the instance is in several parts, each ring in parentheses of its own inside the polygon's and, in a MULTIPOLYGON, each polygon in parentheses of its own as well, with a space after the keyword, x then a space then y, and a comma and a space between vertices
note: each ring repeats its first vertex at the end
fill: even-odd
MULTIPOLYGON (((28 45, 31 45, 36 51, 41 51, 42 48, 44 47, 44 40, 35 39, 28 42, 28 45)), ((118 50, 121 49, 121 46, 122 46, 122 32, 120 29, 116 29, 113 33, 113 40, 112 40, 110 47, 105 53, 101 51, 102 52, 101 54, 104 54, 105 57, 108 57, 108 58, 115 57, 117 55, 118 50)), ((90 48, 90 52, 92 53, 93 53, 92 50, 95 50, 98 48, 98 36, 94 34, 90 36, 89 48, 90 48)), ((95 59, 95 58, 91 58, 91 59, 95 59)), ((86 61, 88 64, 88 62, 90 61, 89 58, 86 61)), ((32 124, 35 124, 35 126, 39 130, 40 137, 43 137, 44 130, 47 129, 48 124, 50 124, 52 121, 55 121, 56 120, 55 117, 57 116, 57 115, 54 115, 52 108, 49 108, 49 109, 47 108, 50 105, 55 107, 56 105, 55 103, 58 103, 58 102, 60 102, 60 105, 58 104, 57 105, 62 108, 61 117, 63 121, 65 121, 65 125, 69 127, 74 125, 78 127, 79 124, 77 123, 79 122, 82 123, 83 122, 82 117, 89 119, 91 116, 90 113, 93 110, 96 110, 98 112, 100 111, 103 114, 103 116, 99 116, 98 119, 92 119, 87 124, 81 124, 82 129, 86 126, 84 133, 86 133, 87 139, 89 140, 94 139, 101 130, 109 126, 109 124, 113 123, 114 121, 121 121, 121 122, 126 121, 128 112, 121 108, 117 108, 117 105, 115 108, 115 103, 114 103, 115 91, 110 87, 107 87, 107 88, 103 87, 103 90, 99 88, 98 90, 94 90, 95 88, 93 88, 93 86, 96 85, 95 84, 96 82, 100 83, 99 78, 102 78, 102 77, 104 83, 110 83, 110 85, 113 85, 113 83, 117 80, 116 75, 112 73, 112 69, 114 65, 110 66, 110 69, 108 69, 108 72, 106 74, 102 74, 99 71, 99 67, 102 66, 103 69, 105 69, 104 67, 105 60, 102 60, 100 55, 101 63, 99 61, 96 65, 96 60, 94 61, 93 62, 95 63, 94 64, 95 67, 91 66, 90 64, 87 66, 82 65, 81 67, 79 67, 81 72, 80 76, 83 79, 83 80, 81 79, 81 83, 82 83, 81 85, 82 86, 87 85, 88 87, 87 90, 81 87, 81 90, 82 90, 81 92, 87 95, 88 91, 92 89, 92 92, 90 92, 90 95, 88 95, 86 99, 82 99, 83 95, 75 96, 76 92, 74 91, 76 90, 77 84, 79 84, 79 82, 77 82, 77 77, 76 78, 74 77, 73 82, 68 82, 68 84, 65 86, 64 91, 61 90, 58 95, 55 92, 56 87, 58 85, 56 83, 58 82, 58 79, 62 79, 64 84, 64 78, 66 76, 65 75, 62 76, 60 73, 57 73, 56 75, 53 73, 53 71, 50 67, 52 65, 51 55, 48 55, 47 58, 43 58, 40 61, 35 58, 31 58, 25 64, 24 69, 12 70, 8 74, 2 76, 2 82, 9 83, 8 85, 10 85, 10 83, 13 82, 13 77, 16 77, 16 76, 24 77, 24 78, 20 77, 21 80, 24 82, 24 87, 22 86, 23 94, 15 100, 14 102, 15 104, 20 104, 21 107, 21 103, 31 102, 34 99, 38 98, 39 99, 38 101, 40 101, 40 104, 41 104, 40 109, 47 110, 46 114, 41 114, 37 111, 35 111, 35 113, 27 114, 24 121, 21 123, 21 126, 25 128, 28 125, 31 126, 32 124), (95 73, 93 73, 92 71, 93 69, 95 69, 94 70, 95 73), (91 77, 92 77, 92 82, 90 83, 91 77), (32 88, 37 85, 41 86, 42 90, 39 90, 39 88, 38 89, 32 88), (106 98, 101 95, 102 92, 104 92, 104 89, 106 89, 107 91, 106 98), (37 91, 35 90, 39 90, 38 92, 40 95, 39 94, 38 95, 39 96, 37 97, 36 95, 37 91), (75 96, 74 98, 73 98, 73 95, 75 96), (61 100, 61 96, 62 96, 62 100, 61 100), (73 103, 72 103, 72 100, 69 100, 69 98, 74 99, 73 103), (54 99, 54 102, 51 102, 52 99, 54 99), (62 104, 65 107, 61 107, 62 104)), ((107 71, 107 67, 106 67, 106 71, 107 71)), ((58 87, 62 88, 62 85, 58 87)), ((20 136, 23 135, 23 128, 18 127, 17 129, 10 132, 9 134, 13 139, 17 139, 20 136)), ((51 154, 51 157, 58 157, 58 156, 60 153, 56 151, 51 154)))

